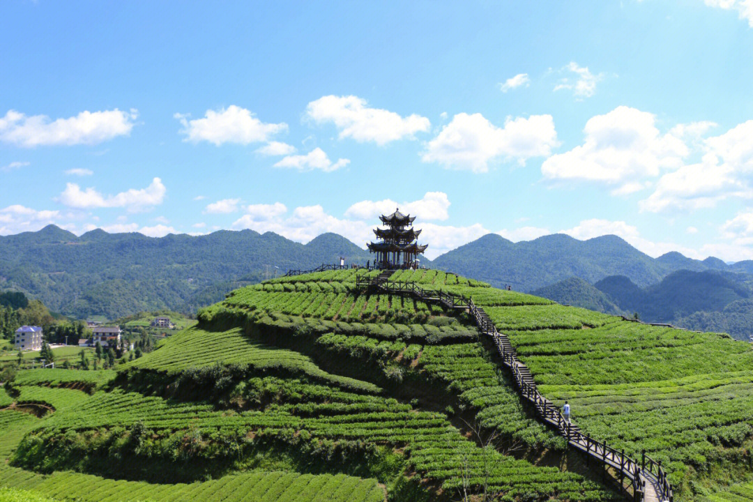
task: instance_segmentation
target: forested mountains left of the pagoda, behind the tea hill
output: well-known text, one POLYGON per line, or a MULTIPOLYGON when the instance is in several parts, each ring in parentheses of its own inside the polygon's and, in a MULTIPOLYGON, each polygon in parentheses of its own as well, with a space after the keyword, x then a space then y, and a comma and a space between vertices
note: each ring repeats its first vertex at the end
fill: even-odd
POLYGON ((77 237, 50 225, 0 236, 0 288, 23 291, 76 318, 195 312, 241 285, 291 268, 335 263, 340 256, 355 263, 368 259, 366 251, 335 234, 301 245, 252 230, 161 238, 92 230, 77 237))

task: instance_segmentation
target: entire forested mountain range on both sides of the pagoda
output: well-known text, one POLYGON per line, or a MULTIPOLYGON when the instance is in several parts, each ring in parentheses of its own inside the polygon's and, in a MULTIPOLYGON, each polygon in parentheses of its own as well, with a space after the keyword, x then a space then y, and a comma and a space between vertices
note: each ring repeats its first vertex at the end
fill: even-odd
MULTIPOLYGON (((53 311, 77 318, 117 318, 157 309, 195 312, 239 285, 287 269, 335 263, 340 256, 349 263, 370 259, 367 251, 334 233, 302 245, 253 230, 152 238, 103 230, 75 236, 50 225, 0 237, 0 290, 23 291, 53 311)), ((652 321, 721 312, 748 298, 748 274, 753 272, 750 260, 727 265, 717 258, 692 260, 675 252, 652 258, 617 236, 580 241, 562 234, 517 243, 489 234, 422 263, 495 286, 536 291, 561 303, 639 312, 652 321), (680 270, 721 275, 672 275, 680 270), (705 292, 717 288, 709 281, 726 285, 709 297, 705 292), (688 302, 679 305, 684 297, 688 302)), ((715 317, 709 323, 720 321, 715 317)))

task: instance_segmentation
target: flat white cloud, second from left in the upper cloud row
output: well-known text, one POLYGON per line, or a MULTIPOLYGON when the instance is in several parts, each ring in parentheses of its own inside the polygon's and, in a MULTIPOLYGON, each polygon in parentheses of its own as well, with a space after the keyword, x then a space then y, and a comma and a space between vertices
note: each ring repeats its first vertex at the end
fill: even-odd
POLYGON ((195 120, 188 120, 185 114, 175 114, 174 117, 183 126, 180 130, 186 136, 183 141, 209 141, 217 146, 270 141, 273 135, 288 130, 286 123, 264 123, 251 111, 236 105, 218 111, 207 110, 203 118, 195 120))

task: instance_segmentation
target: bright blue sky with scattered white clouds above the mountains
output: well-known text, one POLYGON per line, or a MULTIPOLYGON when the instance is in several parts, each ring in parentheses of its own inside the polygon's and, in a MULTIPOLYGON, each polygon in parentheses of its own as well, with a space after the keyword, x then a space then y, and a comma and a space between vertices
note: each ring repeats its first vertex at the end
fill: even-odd
POLYGON ((753 258, 751 0, 40 0, 0 19, 0 234, 364 245, 399 205, 430 257, 565 232, 753 258))

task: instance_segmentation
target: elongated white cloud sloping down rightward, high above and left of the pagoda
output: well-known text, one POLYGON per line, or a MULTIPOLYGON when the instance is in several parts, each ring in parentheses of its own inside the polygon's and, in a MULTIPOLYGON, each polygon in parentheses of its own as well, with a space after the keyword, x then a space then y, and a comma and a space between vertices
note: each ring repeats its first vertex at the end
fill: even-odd
POLYGON ((309 103, 306 115, 316 123, 334 123, 340 138, 374 141, 377 145, 413 138, 430 126, 428 118, 420 115, 401 117, 394 111, 368 108, 366 100, 358 96, 322 96, 309 103))

